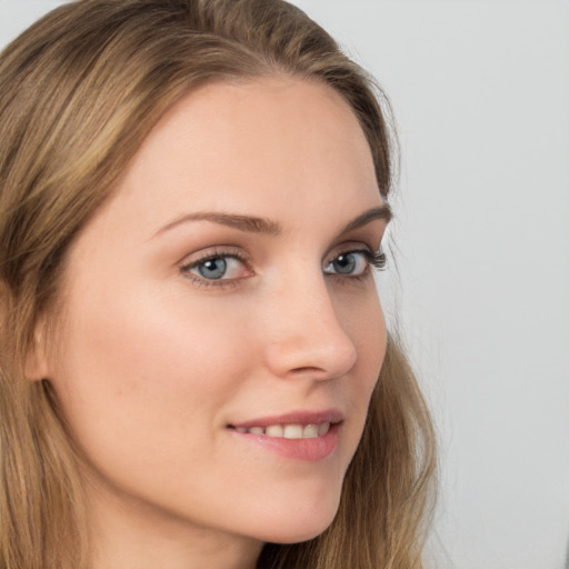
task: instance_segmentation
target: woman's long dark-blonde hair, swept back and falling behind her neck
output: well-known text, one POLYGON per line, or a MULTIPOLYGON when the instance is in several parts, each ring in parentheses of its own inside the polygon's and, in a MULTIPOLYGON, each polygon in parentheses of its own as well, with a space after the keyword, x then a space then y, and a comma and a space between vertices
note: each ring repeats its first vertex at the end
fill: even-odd
MULTIPOLYGON (((38 323, 57 322, 69 243, 176 101, 208 81, 274 73, 345 98, 387 198, 387 100, 284 1, 80 0, 0 56, 0 569, 89 567, 64 418, 49 382, 24 372, 38 323)), ((259 567, 419 569, 433 470, 429 413, 391 337, 335 521, 308 542, 267 545, 259 567)))

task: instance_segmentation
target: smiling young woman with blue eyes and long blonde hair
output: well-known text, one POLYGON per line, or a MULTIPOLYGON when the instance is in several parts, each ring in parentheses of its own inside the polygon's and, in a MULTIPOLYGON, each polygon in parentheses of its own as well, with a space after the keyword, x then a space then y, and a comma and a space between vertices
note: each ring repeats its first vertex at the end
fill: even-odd
POLYGON ((279 0, 83 0, 0 84, 1 567, 421 567, 370 79, 279 0))

